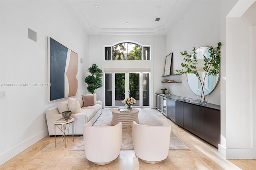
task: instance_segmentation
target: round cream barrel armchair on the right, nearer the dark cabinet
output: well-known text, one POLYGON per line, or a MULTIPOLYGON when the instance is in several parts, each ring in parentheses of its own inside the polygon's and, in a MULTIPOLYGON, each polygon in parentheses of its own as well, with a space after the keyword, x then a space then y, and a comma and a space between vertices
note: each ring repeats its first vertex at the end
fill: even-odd
POLYGON ((166 159, 169 152, 171 125, 162 126, 132 124, 132 139, 136 156, 143 162, 157 164, 166 159))

